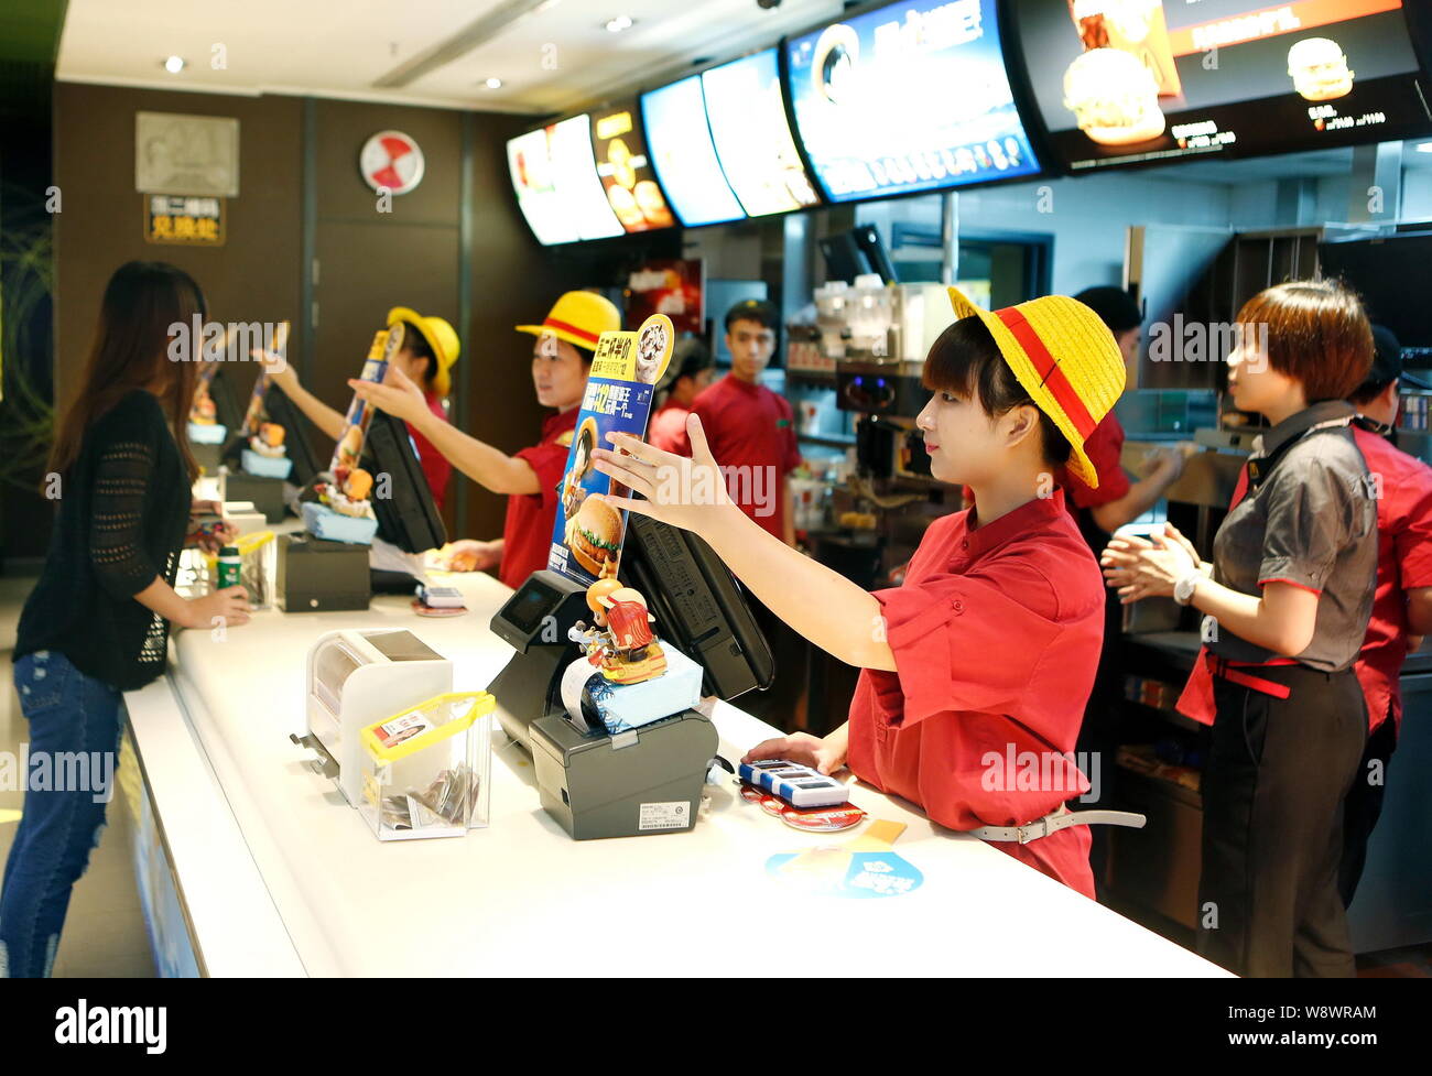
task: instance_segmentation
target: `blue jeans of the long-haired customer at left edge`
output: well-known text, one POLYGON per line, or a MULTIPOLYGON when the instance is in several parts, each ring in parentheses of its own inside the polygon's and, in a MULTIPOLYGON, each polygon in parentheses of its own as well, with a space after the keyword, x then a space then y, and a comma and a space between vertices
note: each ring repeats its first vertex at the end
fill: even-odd
POLYGON ((125 703, 54 650, 20 658, 14 685, 30 755, 0 887, 0 979, 39 979, 54 967, 70 890, 105 828, 125 703))

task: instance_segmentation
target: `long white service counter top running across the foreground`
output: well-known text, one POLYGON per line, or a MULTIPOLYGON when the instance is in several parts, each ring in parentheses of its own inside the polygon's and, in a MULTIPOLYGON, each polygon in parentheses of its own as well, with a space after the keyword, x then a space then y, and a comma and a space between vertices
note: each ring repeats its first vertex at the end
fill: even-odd
MULTIPOLYGON (((788 828, 729 783, 706 787, 690 833, 573 841, 500 731, 488 828, 379 843, 288 738, 304 731, 305 655, 334 628, 408 628, 453 658, 455 690, 483 688, 511 652, 488 630, 510 591, 487 575, 455 585, 470 612, 450 620, 387 597, 354 614, 262 611, 223 641, 180 632, 169 675, 126 697, 182 911, 170 929, 202 973, 735 974, 743 942, 799 916, 806 937, 839 939, 798 954, 811 974, 1223 974, 868 787, 851 798, 908 826, 894 851, 924 877, 899 896, 815 896, 769 876, 769 857, 863 828, 788 828)), ((776 734, 735 705, 712 717, 727 760, 776 734)))

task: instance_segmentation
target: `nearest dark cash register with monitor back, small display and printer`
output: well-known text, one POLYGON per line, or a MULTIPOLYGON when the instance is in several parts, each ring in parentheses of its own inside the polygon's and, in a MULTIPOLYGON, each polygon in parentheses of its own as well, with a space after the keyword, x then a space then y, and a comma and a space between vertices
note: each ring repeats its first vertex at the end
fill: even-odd
MULTIPOLYGON (((770 685, 770 648, 700 538, 633 514, 620 578, 646 597, 662 642, 702 667, 705 694, 730 700, 770 685)), ((610 733, 586 694, 581 713, 570 713, 563 675, 583 651, 569 631, 586 615, 586 587, 546 569, 498 610, 493 631, 517 651, 488 685, 503 731, 531 754, 543 808, 574 840, 690 830, 716 727, 686 707, 610 733)))

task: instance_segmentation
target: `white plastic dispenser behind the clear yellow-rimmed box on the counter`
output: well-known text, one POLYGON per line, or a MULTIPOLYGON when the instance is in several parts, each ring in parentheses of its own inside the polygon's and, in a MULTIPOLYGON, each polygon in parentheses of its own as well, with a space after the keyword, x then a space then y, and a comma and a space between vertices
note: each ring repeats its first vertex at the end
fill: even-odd
POLYGON ((359 733, 451 690, 453 662, 411 631, 329 631, 308 651, 308 734, 289 740, 312 750, 312 767, 361 807, 359 733))

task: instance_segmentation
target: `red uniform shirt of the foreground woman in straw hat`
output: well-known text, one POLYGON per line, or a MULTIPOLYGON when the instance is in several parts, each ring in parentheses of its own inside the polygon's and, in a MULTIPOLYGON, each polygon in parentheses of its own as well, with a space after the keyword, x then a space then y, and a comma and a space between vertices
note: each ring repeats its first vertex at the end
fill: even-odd
MULTIPOLYGON (((971 514, 931 524, 904 585, 875 592, 896 671, 863 670, 851 703, 851 770, 952 830, 1087 791, 1073 751, 1104 641, 1104 581, 1063 491, 978 529, 971 514)), ((994 847, 1093 899, 1087 827, 994 847)))

